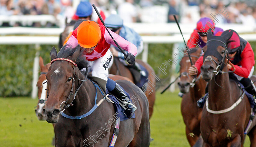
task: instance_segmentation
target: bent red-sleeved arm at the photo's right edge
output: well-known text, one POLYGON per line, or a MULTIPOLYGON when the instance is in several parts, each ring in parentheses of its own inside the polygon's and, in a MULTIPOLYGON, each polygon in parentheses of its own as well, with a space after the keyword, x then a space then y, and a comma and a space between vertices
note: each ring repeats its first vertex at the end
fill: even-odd
MULTIPOLYGON (((236 70, 234 71, 234 74, 237 74, 238 76, 248 78, 252 67, 254 66, 254 53, 251 48, 251 45, 249 42, 247 42, 243 52, 241 53, 241 66, 239 67, 238 65, 234 65, 236 70)), ((233 70, 231 68, 230 70, 233 70)))

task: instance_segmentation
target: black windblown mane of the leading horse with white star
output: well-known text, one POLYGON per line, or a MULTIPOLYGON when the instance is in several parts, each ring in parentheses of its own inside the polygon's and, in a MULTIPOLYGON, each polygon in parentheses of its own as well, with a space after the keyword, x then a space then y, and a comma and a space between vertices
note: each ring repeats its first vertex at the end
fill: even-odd
MULTIPOLYGON (((76 51, 76 48, 79 47, 76 46, 76 47, 72 47, 70 45, 64 45, 59 53, 57 54, 57 57, 58 58, 67 58, 68 56, 72 56, 73 53, 76 51)), ((83 69, 83 68, 88 68, 88 61, 85 60, 85 56, 83 56, 84 52, 83 51, 80 51, 80 54, 79 56, 76 58, 76 64, 77 64, 77 67, 79 68, 79 70, 83 69)))

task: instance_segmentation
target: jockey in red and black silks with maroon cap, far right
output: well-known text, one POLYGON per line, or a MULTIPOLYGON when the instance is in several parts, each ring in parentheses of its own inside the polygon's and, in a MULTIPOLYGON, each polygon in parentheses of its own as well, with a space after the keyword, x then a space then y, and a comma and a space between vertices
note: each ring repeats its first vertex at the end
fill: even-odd
MULTIPOLYGON (((254 52, 251 48, 249 42, 241 38, 236 31, 229 29, 222 32, 222 35, 233 32, 233 35, 228 39, 227 50, 228 55, 231 60, 231 63, 234 64, 236 70, 234 71, 234 75, 239 80, 245 88, 245 90, 256 96, 256 88, 251 81, 250 77, 254 71, 254 52)), ((201 57, 200 57, 201 58, 201 57)), ((197 60, 193 67, 189 68, 190 75, 198 75, 200 74, 200 68, 203 65, 203 57, 202 60, 200 58, 197 60)), ((231 65, 227 64, 229 70, 234 70, 231 65)), ((207 88, 208 90, 208 88, 207 88)), ((202 97, 198 100, 198 106, 203 107, 205 102, 205 97, 202 97)))

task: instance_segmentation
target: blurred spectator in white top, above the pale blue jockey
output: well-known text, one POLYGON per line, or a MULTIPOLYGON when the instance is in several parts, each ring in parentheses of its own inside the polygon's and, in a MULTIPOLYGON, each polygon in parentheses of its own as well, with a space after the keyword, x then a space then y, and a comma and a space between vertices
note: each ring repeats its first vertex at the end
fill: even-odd
POLYGON ((124 23, 136 22, 138 13, 133 2, 133 0, 126 0, 126 2, 118 6, 118 14, 123 19, 124 23))

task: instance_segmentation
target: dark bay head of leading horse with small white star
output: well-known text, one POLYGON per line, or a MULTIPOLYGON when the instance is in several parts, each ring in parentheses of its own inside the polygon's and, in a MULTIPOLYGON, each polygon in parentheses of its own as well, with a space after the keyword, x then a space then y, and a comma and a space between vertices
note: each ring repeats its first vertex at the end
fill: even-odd
POLYGON ((53 47, 50 54, 51 66, 46 73, 48 98, 44 112, 47 122, 56 123, 59 120, 60 112, 73 101, 75 85, 77 85, 74 84, 75 77, 77 77, 76 74, 80 74, 76 67, 79 60, 77 57, 81 54, 79 46, 73 49, 66 49, 66 46, 63 46, 58 55, 53 47))

